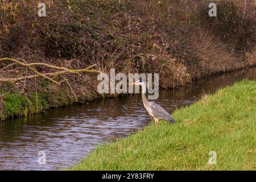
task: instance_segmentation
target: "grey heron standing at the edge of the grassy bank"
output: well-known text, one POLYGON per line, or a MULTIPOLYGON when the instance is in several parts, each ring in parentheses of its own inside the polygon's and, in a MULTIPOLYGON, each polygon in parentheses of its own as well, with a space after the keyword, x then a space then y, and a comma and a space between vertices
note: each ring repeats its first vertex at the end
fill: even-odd
POLYGON ((156 127, 158 127, 158 121, 159 119, 163 119, 165 121, 175 123, 174 118, 171 117, 171 115, 163 109, 160 105, 156 104, 155 102, 148 102, 146 98, 146 84, 142 82, 141 80, 138 80, 136 82, 131 83, 130 85, 141 85, 142 86, 142 100, 144 107, 148 111, 151 117, 154 118, 156 127))

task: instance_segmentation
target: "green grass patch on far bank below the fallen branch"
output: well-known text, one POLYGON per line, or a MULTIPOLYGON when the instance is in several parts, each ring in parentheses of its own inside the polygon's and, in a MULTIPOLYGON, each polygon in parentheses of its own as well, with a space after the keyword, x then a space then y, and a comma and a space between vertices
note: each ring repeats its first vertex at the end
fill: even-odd
MULTIPOLYGON (((47 85, 47 82, 39 82, 39 84, 47 85)), ((75 97, 67 97, 67 90, 59 89, 58 93, 43 93, 31 92, 23 94, 18 92, 11 92, 0 87, 0 122, 12 117, 28 117, 34 114, 42 113, 51 107, 68 106, 76 103, 75 97)), ((84 98, 79 97, 80 100, 92 101, 96 96, 89 92, 84 98)))

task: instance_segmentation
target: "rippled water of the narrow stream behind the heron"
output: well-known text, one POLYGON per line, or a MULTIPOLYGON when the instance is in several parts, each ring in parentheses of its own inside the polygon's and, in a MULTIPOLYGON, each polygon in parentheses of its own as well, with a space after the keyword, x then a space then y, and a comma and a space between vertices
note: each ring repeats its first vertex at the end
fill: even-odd
MULTIPOLYGON (((256 79, 256 68, 207 78, 187 88, 163 90, 156 102, 172 113, 177 107, 195 102, 202 93, 213 93, 242 78, 256 79)), ((0 124, 0 169, 68 167, 84 158, 96 144, 126 137, 150 121, 138 94, 10 119, 0 124), (46 165, 38 164, 39 151, 46 152, 46 165)))

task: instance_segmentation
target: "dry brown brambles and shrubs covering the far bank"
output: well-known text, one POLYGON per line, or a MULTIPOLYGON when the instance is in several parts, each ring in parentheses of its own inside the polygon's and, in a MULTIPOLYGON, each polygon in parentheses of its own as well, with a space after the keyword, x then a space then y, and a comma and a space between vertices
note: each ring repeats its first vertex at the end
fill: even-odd
MULTIPOLYGON (((106 73, 110 68, 155 72, 162 88, 256 64, 254 1, 216 1, 216 18, 208 16, 210 1, 48 0, 47 17, 37 15, 39 1, 0 2, 0 58, 69 69, 96 64, 106 73)), ((0 69, 0 78, 32 74, 10 62, 0 63, 0 69)), ((36 69, 54 71, 40 65, 36 69)), ((97 97, 95 73, 68 73, 65 78, 79 101, 97 97)), ((75 100, 67 82, 37 79, 0 82, 2 100, 10 91, 46 93, 49 106, 75 100)))

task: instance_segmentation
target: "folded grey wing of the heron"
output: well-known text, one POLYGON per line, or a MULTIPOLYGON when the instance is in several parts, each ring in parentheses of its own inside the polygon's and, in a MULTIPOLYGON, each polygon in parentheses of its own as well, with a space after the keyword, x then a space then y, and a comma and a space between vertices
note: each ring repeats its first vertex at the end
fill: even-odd
POLYGON ((155 102, 149 102, 148 104, 150 105, 150 110, 155 117, 175 123, 174 118, 172 118, 171 115, 163 109, 163 107, 155 102))

